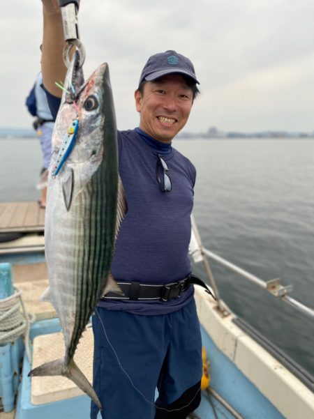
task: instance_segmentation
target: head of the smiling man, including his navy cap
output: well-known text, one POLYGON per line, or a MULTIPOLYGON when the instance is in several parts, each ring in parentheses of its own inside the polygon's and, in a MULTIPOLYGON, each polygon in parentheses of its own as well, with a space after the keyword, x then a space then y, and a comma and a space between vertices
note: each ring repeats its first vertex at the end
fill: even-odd
POLYGON ((197 94, 193 64, 174 51, 155 54, 142 70, 135 91, 140 128, 161 142, 171 142, 184 128, 197 94))

